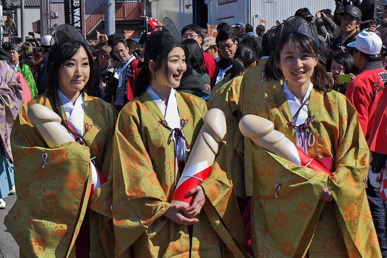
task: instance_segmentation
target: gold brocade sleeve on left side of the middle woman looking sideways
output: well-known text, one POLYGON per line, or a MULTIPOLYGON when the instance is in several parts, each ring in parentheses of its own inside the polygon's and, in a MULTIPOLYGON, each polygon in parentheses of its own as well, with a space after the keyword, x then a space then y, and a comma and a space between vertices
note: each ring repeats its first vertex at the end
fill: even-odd
POLYGON ((142 142, 134 108, 119 115, 111 171, 113 227, 120 256, 170 207, 142 142))

